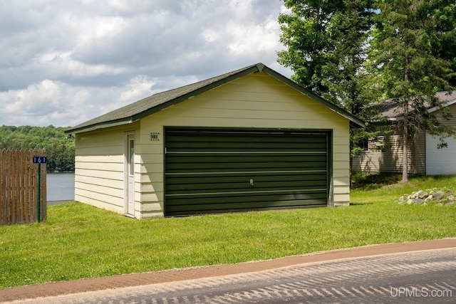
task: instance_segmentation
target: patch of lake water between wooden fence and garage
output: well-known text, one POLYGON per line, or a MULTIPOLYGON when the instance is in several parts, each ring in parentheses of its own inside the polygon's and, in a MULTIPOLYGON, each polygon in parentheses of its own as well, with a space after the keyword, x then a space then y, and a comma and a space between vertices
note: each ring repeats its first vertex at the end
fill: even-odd
POLYGON ((53 201, 74 201, 74 173, 47 173, 46 191, 48 206, 53 201))

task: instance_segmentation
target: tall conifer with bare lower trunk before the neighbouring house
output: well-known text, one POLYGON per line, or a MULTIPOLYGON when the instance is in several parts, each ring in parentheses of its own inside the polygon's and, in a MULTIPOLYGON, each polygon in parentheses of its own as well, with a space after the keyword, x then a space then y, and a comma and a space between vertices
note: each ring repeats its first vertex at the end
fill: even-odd
POLYGON ((454 4, 381 0, 377 5, 369 60, 384 97, 397 103, 397 114, 403 116, 403 182, 408 182, 409 138, 417 130, 451 133, 426 108, 432 105, 442 109, 435 93, 451 90, 452 62, 440 43, 451 41, 454 35, 454 26, 447 26, 447 21, 441 19, 442 11, 454 10, 454 4))

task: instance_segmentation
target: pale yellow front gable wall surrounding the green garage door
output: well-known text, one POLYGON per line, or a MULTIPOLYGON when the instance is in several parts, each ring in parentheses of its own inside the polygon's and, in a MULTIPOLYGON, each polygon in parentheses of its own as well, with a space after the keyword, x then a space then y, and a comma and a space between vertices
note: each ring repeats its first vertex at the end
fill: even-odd
POLYGON ((349 197, 348 120, 265 73, 234 80, 141 120, 142 217, 162 215, 164 127, 258 127, 333 130, 333 204, 349 197), (150 141, 150 133, 159 140, 150 141))

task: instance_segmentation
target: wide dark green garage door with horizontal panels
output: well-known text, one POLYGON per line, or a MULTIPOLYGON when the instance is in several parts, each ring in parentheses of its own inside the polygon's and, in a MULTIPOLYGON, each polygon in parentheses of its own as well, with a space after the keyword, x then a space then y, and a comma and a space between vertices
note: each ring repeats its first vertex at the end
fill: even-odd
POLYGON ((165 215, 326 206, 328 134, 165 130, 165 215))

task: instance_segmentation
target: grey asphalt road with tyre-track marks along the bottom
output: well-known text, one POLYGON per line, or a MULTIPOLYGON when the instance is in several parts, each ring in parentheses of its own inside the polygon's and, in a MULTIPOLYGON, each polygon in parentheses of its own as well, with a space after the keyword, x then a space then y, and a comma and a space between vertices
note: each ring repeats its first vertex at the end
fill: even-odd
POLYGON ((11 303, 456 303, 456 248, 345 258, 11 303))

